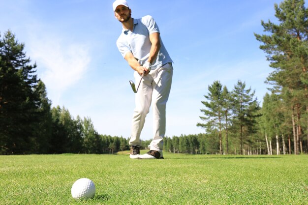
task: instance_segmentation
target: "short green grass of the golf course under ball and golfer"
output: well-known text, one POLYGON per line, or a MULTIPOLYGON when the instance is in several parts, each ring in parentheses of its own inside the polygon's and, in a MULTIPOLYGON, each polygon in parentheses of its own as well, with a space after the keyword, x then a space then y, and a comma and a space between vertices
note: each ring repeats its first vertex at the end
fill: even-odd
POLYGON ((308 205, 308 156, 0 156, 0 205, 308 205), (74 200, 78 178, 93 199, 74 200))

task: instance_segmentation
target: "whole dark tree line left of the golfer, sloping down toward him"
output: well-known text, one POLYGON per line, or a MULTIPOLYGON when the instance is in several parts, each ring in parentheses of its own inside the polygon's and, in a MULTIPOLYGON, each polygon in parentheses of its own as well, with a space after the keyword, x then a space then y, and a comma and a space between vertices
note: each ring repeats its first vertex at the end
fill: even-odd
POLYGON ((0 154, 113 153, 128 149, 123 137, 100 135, 90 117, 74 119, 51 108, 36 64, 11 31, 0 39, 0 154))

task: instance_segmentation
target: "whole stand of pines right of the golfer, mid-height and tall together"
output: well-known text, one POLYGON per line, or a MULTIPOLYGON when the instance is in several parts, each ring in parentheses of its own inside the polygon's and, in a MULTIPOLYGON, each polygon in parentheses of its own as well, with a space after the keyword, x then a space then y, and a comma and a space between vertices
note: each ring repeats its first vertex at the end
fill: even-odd
POLYGON ((255 33, 274 69, 262 108, 241 81, 231 92, 215 81, 202 101, 205 123, 197 126, 218 133, 220 154, 308 153, 308 9, 304 0, 284 0, 275 11, 278 24, 261 21, 266 34, 255 33))

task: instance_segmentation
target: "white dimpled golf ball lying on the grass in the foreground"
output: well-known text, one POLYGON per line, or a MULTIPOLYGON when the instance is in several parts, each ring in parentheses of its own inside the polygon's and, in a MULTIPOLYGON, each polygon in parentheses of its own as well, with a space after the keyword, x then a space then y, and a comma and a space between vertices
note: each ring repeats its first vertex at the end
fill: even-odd
POLYGON ((80 178, 73 184, 71 193, 74 199, 92 198, 95 195, 95 184, 89 178, 80 178))

